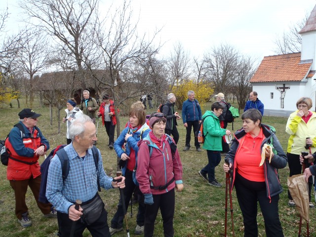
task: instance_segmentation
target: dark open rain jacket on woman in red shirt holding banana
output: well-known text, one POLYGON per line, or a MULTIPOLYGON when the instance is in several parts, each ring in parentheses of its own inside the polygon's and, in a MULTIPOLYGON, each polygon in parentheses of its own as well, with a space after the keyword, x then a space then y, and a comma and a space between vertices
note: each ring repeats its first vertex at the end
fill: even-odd
MULTIPOLYGON (((263 135, 265 139, 263 140, 261 144, 261 151, 262 147, 265 143, 271 144, 276 151, 276 154, 274 155, 274 158, 271 160, 271 163, 269 163, 269 159, 265 159, 265 162, 263 163, 264 167, 264 175, 265 175, 265 182, 266 182, 266 188, 267 188, 267 197, 271 199, 271 197, 274 197, 278 194, 280 194, 283 189, 280 184, 280 180, 278 178, 278 172, 277 169, 284 168, 287 164, 287 157, 285 153, 283 152, 283 149, 276 137, 276 135, 271 131, 270 127, 264 124, 261 124, 263 135)), ((238 153, 239 145, 244 141, 246 132, 242 129, 237 130, 235 133, 235 139, 232 142, 231 149, 229 153, 226 154, 225 158, 229 158, 229 162, 232 163, 232 169, 233 169, 233 177, 232 177, 232 187, 234 187, 235 182, 235 175, 236 175, 236 159, 235 156, 238 153)), ((241 156, 241 154, 238 154, 238 156, 241 156)))

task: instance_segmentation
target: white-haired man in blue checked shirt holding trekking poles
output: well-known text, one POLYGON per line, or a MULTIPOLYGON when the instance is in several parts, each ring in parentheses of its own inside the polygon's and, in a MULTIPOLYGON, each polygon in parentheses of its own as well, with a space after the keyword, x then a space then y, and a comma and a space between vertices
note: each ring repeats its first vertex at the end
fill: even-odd
POLYGON ((124 188, 125 178, 112 179, 106 175, 99 149, 96 163, 92 147, 97 137, 91 118, 86 115, 77 118, 69 127, 69 135, 72 143, 64 148, 68 156, 68 176, 63 179, 58 151, 50 161, 46 185, 46 197, 57 209, 59 232, 62 237, 69 237, 73 229, 74 236, 82 236, 87 228, 93 237, 111 237, 97 180, 102 188, 113 189, 124 188), (79 210, 75 208, 77 199, 82 201, 79 210), (85 213, 89 205, 94 206, 91 215, 85 213), (76 228, 72 228, 74 225, 76 228))

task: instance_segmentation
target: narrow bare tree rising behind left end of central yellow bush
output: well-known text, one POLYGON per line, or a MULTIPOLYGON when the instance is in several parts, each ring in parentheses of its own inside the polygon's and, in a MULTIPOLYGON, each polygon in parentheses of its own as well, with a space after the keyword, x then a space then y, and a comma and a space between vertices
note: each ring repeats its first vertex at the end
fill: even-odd
POLYGON ((189 68, 191 67, 190 55, 184 50, 180 42, 173 46, 166 67, 171 90, 175 84, 181 84, 184 79, 188 79, 189 68))

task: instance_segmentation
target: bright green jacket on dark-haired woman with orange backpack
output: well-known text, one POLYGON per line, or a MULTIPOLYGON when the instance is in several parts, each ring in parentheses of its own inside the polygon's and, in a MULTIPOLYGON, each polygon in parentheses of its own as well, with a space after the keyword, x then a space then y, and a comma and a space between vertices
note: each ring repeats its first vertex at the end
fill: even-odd
POLYGON ((205 136, 203 149, 212 151, 222 151, 222 137, 226 134, 226 129, 221 128, 218 117, 212 112, 207 110, 202 116, 203 134, 205 136), (206 116, 208 116, 206 118, 206 116))

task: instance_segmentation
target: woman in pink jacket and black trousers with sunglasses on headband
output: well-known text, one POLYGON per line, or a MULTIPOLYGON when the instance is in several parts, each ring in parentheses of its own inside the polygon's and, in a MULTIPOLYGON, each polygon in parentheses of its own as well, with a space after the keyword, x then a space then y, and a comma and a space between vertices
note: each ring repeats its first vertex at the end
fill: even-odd
POLYGON ((159 208, 164 237, 173 237, 174 188, 178 192, 183 190, 182 164, 173 139, 164 134, 165 115, 155 112, 149 119, 149 126, 153 130, 138 143, 136 172, 146 204, 144 237, 154 235, 159 208))

